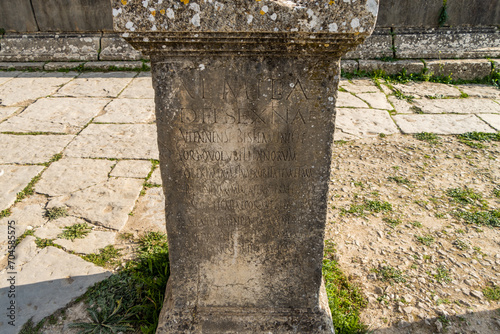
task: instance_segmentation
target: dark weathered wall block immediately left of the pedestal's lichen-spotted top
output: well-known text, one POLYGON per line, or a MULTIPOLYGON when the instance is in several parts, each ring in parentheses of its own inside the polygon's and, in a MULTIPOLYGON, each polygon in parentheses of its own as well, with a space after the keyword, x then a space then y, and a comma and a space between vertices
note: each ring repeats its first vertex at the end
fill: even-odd
POLYGON ((102 31, 112 29, 109 1, 32 0, 41 31, 102 31))

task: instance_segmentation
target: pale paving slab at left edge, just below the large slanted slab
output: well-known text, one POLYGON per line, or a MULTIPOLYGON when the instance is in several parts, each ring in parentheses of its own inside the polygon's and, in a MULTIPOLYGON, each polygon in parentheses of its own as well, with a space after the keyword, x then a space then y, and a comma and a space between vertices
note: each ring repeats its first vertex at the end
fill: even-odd
POLYGON ((0 134, 0 163, 39 164, 48 162, 74 138, 70 135, 0 134))

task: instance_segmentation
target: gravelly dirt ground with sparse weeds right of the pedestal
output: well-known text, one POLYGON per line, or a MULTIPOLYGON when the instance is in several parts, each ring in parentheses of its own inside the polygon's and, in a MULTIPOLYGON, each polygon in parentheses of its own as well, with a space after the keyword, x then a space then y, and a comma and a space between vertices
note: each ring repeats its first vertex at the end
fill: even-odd
POLYGON ((500 333, 500 304, 482 293, 500 285, 500 227, 453 213, 500 207, 500 147, 485 146, 408 135, 336 143, 327 238, 368 298, 362 321, 374 333, 500 333), (457 188, 476 199, 457 202, 457 188), (361 213, 370 203, 380 212, 361 213))

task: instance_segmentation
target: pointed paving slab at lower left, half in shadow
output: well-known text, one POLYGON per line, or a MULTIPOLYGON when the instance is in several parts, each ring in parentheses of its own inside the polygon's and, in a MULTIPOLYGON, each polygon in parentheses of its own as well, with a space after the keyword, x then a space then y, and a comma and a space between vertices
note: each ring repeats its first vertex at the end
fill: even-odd
MULTIPOLYGON (((34 242, 32 243, 34 245, 34 242)), ((36 247, 36 246, 35 246, 36 247)), ((16 328, 19 330, 29 319, 38 323, 55 311, 64 308, 75 298, 83 295, 95 283, 111 273, 87 262, 77 255, 68 254, 55 247, 40 250, 17 273, 19 294, 16 296, 18 313, 16 328), (46 270, 51 268, 51 270, 46 270)), ((1 275, 2 287, 7 281, 1 275)), ((6 302, 7 289, 1 289, 0 298, 6 302), (5 298, 5 299, 4 299, 5 298)), ((8 324, 3 322, 0 331, 8 324)))

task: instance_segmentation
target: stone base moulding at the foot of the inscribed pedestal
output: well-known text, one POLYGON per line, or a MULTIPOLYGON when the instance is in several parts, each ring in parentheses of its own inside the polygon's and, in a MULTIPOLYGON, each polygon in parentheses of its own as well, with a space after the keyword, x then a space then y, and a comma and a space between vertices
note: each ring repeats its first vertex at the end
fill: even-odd
MULTIPOLYGON (((170 281, 169 281, 170 283, 170 281)), ((185 307, 172 305, 167 284, 156 334, 334 334, 324 282, 316 309, 185 307)))

